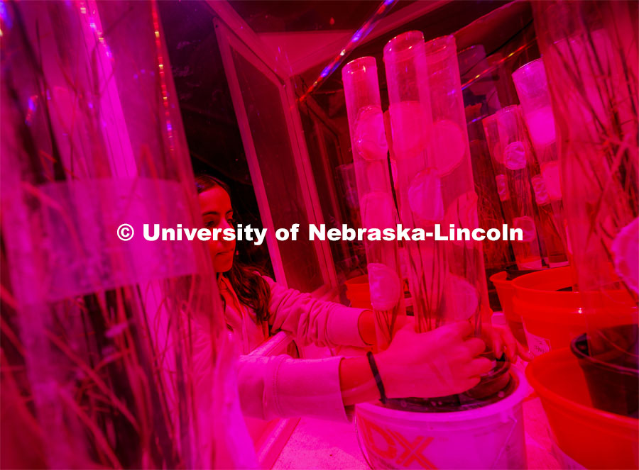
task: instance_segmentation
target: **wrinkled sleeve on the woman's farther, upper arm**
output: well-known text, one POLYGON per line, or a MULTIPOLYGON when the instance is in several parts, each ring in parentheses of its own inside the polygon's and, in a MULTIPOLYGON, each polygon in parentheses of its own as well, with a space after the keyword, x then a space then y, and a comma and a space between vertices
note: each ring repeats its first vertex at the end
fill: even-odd
POLYGON ((366 347, 359 335, 358 320, 364 308, 319 301, 308 293, 286 289, 264 276, 271 286, 269 323, 295 337, 300 345, 366 347))

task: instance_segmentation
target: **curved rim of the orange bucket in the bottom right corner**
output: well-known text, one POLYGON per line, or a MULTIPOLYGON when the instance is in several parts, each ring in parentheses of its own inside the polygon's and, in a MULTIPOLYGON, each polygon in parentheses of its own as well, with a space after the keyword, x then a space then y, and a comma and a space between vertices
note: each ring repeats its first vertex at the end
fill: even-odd
POLYGON ((581 415, 581 418, 595 418, 597 420, 606 421, 610 424, 615 423, 616 425, 622 425, 623 427, 630 427, 633 430, 636 430, 639 423, 638 419, 630 418, 629 416, 617 415, 616 413, 610 413, 608 411, 594 408, 593 406, 587 406, 577 403, 576 401, 572 401, 569 398, 552 391, 536 378, 535 372, 537 369, 544 369, 545 362, 550 361, 557 364, 562 360, 563 362, 566 362, 567 359, 574 361, 575 366, 579 367, 577 357, 574 357, 570 347, 562 347, 560 349, 555 349, 554 351, 541 354, 540 356, 535 357, 535 359, 528 364, 528 367, 526 367, 526 378, 528 379, 530 386, 535 389, 537 395, 539 395, 542 400, 548 400, 552 403, 552 405, 563 408, 566 413, 573 414, 577 412, 581 415))

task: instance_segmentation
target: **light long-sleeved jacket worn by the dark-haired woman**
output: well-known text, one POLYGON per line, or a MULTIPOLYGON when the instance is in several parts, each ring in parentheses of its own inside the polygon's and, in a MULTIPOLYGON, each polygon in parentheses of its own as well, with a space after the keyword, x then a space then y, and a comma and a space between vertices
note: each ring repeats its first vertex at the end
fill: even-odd
MULTIPOLYGON (((319 301, 307 293, 286 289, 269 277, 264 279, 271 286, 268 324, 273 332, 290 333, 300 346, 313 343, 321 347, 366 347, 357 325, 364 309, 319 301)), ((239 338, 244 353, 238 367, 239 399, 244 414, 262 420, 302 415, 349 420, 352 407, 344 407, 339 386, 342 357, 293 359, 286 354, 247 355, 267 339, 268 324, 256 323, 253 310, 240 305, 224 276, 219 277, 218 286, 226 303, 226 323, 239 338)), ((206 338, 201 338, 200 344, 202 340, 206 338)), ((198 349, 196 355, 202 354, 198 349)))

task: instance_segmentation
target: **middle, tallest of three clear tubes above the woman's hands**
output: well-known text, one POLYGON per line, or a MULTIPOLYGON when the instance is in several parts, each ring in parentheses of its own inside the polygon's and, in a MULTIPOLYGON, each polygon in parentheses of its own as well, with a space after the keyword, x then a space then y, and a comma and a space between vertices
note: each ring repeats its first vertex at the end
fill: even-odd
MULTIPOLYGON (((444 207, 439 176, 429 165, 432 119, 422 33, 409 31, 386 44, 384 64, 400 220, 407 228, 432 232, 432 225, 444 218, 444 207)), ((444 317, 445 259, 443 252, 433 256, 437 248, 442 247, 432 239, 406 242, 417 330, 435 328, 444 317)))

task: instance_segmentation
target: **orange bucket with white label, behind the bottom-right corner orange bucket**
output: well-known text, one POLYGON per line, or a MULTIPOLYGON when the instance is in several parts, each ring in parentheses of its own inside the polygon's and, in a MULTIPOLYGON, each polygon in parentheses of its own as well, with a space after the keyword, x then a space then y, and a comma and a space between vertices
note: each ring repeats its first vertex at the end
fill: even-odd
MULTIPOLYGON (((513 280, 515 296, 513 308, 521 315, 533 355, 543 354, 551 349, 569 347, 570 342, 587 331, 587 323, 592 328, 606 328, 633 323, 632 315, 620 313, 612 317, 605 308, 601 314, 584 313, 584 293, 559 291, 572 286, 570 267, 545 269, 524 274, 513 280)), ((615 291, 588 293, 589 306, 606 306, 617 297, 615 291)))

